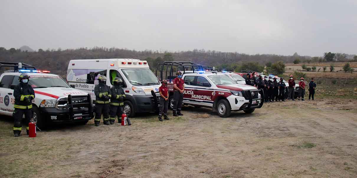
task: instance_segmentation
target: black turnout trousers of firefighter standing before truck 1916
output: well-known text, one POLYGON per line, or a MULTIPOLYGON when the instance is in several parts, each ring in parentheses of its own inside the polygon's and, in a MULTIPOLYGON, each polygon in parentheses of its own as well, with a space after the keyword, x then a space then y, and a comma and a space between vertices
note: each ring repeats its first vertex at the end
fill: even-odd
POLYGON ((12 116, 14 117, 14 134, 19 134, 21 133, 22 129, 22 115, 25 114, 25 124, 26 125, 26 132, 29 132, 29 122, 32 119, 32 109, 19 109, 15 108, 14 112, 12 113, 12 116))

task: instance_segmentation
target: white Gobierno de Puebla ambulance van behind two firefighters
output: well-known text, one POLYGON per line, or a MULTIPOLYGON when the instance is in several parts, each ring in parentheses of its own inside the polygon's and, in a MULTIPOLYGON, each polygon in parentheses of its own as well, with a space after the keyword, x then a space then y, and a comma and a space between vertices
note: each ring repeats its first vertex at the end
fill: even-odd
POLYGON ((94 87, 99 83, 98 77, 104 75, 107 85, 112 87, 113 79, 123 80, 126 94, 123 109, 129 117, 138 112, 157 111, 161 83, 152 73, 147 61, 139 59, 79 59, 71 60, 67 69, 67 81, 76 89, 91 94, 95 103, 94 87), (155 101, 156 100, 156 101, 155 101))

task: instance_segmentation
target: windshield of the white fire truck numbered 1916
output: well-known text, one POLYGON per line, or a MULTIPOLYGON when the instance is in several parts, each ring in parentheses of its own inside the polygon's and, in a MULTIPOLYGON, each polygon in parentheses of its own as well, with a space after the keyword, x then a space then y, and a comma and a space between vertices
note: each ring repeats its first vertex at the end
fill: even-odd
POLYGON ((29 84, 32 88, 65 87, 70 88, 65 80, 59 76, 31 76, 29 84))

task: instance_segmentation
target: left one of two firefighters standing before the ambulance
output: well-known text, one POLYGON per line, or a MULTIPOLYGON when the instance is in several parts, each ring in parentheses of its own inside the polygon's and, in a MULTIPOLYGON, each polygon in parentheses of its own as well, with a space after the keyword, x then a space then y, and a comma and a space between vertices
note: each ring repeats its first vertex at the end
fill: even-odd
POLYGON ((98 77, 99 84, 94 88, 95 94, 95 126, 99 126, 101 115, 103 114, 103 123, 109 125, 109 103, 111 91, 106 85, 107 78, 104 75, 98 77))

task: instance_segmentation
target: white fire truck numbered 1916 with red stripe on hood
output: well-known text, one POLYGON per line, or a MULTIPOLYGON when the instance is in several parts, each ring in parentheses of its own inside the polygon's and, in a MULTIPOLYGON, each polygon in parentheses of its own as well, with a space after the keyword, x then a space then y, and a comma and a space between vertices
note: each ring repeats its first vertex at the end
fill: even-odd
POLYGON ((14 68, 0 75, 0 114, 12 116, 15 97, 14 88, 19 84, 21 73, 29 73, 29 84, 35 91, 32 100, 34 121, 43 129, 49 124, 59 122, 79 122, 86 124, 92 119, 90 95, 71 88, 59 75, 50 71, 36 70, 35 67, 12 62, 0 62, 0 68, 14 68))

